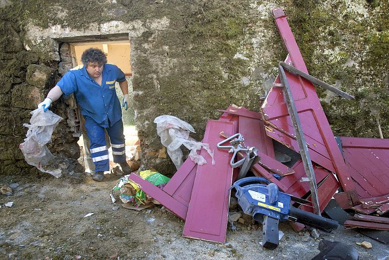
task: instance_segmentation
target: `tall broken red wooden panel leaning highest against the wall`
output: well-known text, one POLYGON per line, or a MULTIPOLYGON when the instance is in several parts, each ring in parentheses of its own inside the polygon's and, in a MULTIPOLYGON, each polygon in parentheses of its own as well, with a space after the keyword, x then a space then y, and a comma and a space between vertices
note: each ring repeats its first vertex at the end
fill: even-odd
MULTIPOLYGON (((286 50, 289 53, 289 58, 285 62, 293 64, 295 68, 308 73, 299 47, 286 20, 286 16, 283 14, 283 10, 273 10, 273 14, 286 50)), ((347 171, 313 84, 300 76, 288 72, 286 72, 286 76, 299 116, 301 114, 301 118, 303 119, 301 123, 305 139, 308 143, 312 140, 308 148, 311 159, 319 165, 326 167, 328 170, 335 172, 344 191, 353 191, 355 189, 354 182, 347 171), (325 152, 323 152, 323 146, 326 148, 325 152), (316 151, 317 154, 314 156, 312 151, 316 151), (332 162, 333 167, 328 167, 328 160, 332 162)), ((275 83, 280 83, 279 78, 276 79, 275 83)), ((291 136, 295 136, 293 127, 290 125, 281 87, 273 86, 271 88, 262 106, 262 113, 265 120, 272 126, 282 132, 289 133, 291 136)), ((276 136, 273 138, 277 140, 276 136)), ((296 149, 295 151, 299 150, 296 149)))

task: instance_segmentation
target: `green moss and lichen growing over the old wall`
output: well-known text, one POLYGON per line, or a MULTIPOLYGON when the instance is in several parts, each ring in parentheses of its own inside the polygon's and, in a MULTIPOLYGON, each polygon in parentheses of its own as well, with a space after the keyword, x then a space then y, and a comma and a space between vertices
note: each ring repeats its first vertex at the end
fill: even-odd
MULTIPOLYGON (((1 13, 16 22, 11 30, 7 27, 9 22, 0 21, 0 32, 16 32, 22 38, 22 29, 30 22, 44 29, 61 25, 83 30, 113 20, 138 20, 147 28, 151 20, 166 17, 166 30, 146 30, 131 39, 139 130, 146 136, 149 148, 158 148, 153 120, 161 114, 190 122, 196 130, 194 137, 200 140, 206 121, 219 117, 217 109, 237 104, 259 110, 258 94, 264 93, 265 82, 268 85, 275 78, 277 63, 287 55, 271 15, 271 8, 282 6, 309 73, 329 84, 337 83, 356 97, 351 102, 329 98, 324 89, 317 87, 335 134, 377 137, 378 117, 384 135, 389 137, 388 1, 274 2, 21 0, 1 13), (237 53, 242 58, 234 58, 237 53), (249 79, 248 85, 242 82, 243 78, 249 79)), ((0 36, 0 48, 5 50, 10 39, 0 36)), ((15 46, 20 43, 18 37, 12 40, 15 46)), ((39 61, 53 60, 53 53, 46 50, 52 49, 53 43, 41 44, 38 48, 42 52, 33 51, 39 61)), ((23 81, 20 68, 28 66, 28 62, 12 55, 0 55, 4 57, 0 59, 5 68, 2 73, 23 81)), ((37 63, 37 59, 32 62, 37 63)))

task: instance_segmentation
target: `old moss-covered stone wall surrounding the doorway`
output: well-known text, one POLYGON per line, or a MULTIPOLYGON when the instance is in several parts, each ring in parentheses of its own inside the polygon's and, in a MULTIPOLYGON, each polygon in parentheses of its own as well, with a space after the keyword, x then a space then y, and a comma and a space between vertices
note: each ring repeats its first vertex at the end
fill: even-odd
MULTIPOLYGON (((259 95, 286 57, 271 9, 282 7, 310 74, 355 95, 349 102, 317 88, 336 135, 378 137, 376 118, 389 138, 389 11, 377 0, 89 0, 7 1, 1 6, 0 173, 25 167, 21 126, 67 68, 62 42, 128 35, 134 107, 144 168, 172 173, 155 117, 191 123, 202 139, 207 119, 229 104, 258 111, 259 95), (10 4, 11 3, 11 4, 10 4), (96 36, 97 35, 97 36, 96 36), (22 100, 22 101, 21 101, 22 100), (376 116, 377 115, 377 116, 376 116), (14 123, 15 122, 15 123, 14 123), (15 125, 15 127, 14 127, 15 125)), ((53 111, 66 118, 69 102, 53 111)), ((76 156, 64 120, 53 137, 56 152, 76 156)))

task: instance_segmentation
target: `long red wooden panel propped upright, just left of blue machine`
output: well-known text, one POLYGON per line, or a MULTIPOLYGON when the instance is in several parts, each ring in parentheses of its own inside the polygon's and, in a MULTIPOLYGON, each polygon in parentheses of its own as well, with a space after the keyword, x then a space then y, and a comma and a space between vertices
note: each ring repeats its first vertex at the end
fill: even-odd
MULTIPOLYGON (((204 142, 213 150, 215 165, 207 163, 197 166, 195 183, 184 225, 184 237, 224 243, 226 241, 229 210, 229 188, 232 181, 231 154, 218 149, 216 144, 223 140, 219 133, 232 135, 233 123, 209 120, 204 142)), ((207 161, 207 152, 200 153, 207 161)))

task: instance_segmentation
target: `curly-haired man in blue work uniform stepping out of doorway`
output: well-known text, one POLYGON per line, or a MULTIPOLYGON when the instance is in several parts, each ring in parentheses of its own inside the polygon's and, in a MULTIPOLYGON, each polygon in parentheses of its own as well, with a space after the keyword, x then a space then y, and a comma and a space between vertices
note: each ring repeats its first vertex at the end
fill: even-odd
POLYGON ((46 111, 62 94, 74 93, 85 118, 85 128, 90 139, 90 153, 95 165, 92 178, 102 181, 104 172, 109 171, 109 157, 106 147, 106 129, 112 147, 113 160, 119 163, 124 173, 131 172, 125 160, 122 110, 116 95, 118 82, 124 94, 122 106, 128 108, 128 84, 121 69, 107 64, 106 55, 99 49, 89 48, 81 56, 83 66, 65 73, 53 87, 38 108, 46 111))

